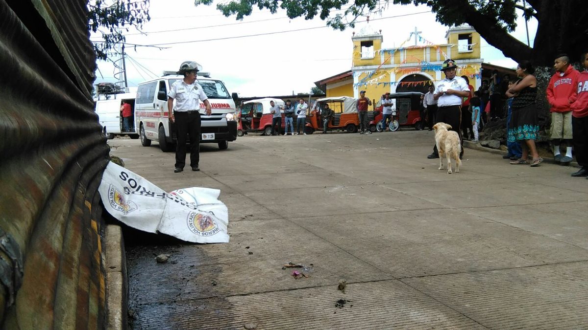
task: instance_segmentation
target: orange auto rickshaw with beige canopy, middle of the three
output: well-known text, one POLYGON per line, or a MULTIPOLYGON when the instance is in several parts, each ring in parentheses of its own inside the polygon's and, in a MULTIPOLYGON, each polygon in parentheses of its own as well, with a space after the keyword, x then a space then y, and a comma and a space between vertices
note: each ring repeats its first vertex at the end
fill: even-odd
MULTIPOLYGON (((349 96, 323 97, 317 99, 310 109, 310 120, 306 124, 306 134, 313 133, 315 130, 323 129, 323 117, 320 115, 320 109, 325 103, 335 112, 335 116, 328 123, 327 130, 345 130, 348 133, 358 132, 359 115, 357 109, 358 99, 349 96)), ((370 117, 373 121, 373 111, 370 111, 370 117)))

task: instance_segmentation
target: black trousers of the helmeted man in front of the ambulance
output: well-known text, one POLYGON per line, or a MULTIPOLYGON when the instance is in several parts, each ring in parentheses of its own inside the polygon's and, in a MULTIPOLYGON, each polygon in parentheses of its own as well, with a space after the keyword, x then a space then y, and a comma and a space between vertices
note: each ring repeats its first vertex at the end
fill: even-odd
POLYGON ((176 141, 176 166, 186 166, 186 136, 190 136, 190 166, 197 167, 200 161, 200 113, 173 112, 178 131, 176 141))

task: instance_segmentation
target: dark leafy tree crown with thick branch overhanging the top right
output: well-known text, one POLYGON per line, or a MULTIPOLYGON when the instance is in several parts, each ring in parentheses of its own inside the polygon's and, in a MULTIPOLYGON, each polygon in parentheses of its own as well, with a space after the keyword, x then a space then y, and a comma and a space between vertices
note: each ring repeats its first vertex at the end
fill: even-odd
MULTIPOLYGON (((195 4, 212 4, 213 0, 195 0, 195 4)), ((242 19, 253 6, 275 13, 279 8, 289 18, 312 19, 319 16, 327 25, 343 30, 355 26, 359 16, 378 12, 389 4, 427 5, 445 25, 468 23, 490 45, 514 60, 530 59, 537 65, 551 65, 558 53, 579 60, 588 49, 588 10, 586 0, 232 0, 216 5, 225 15, 242 19), (332 9, 345 10, 332 14, 332 9), (517 12, 516 9, 520 9, 517 12), (536 18, 537 33, 532 47, 513 38, 517 15, 536 18)))

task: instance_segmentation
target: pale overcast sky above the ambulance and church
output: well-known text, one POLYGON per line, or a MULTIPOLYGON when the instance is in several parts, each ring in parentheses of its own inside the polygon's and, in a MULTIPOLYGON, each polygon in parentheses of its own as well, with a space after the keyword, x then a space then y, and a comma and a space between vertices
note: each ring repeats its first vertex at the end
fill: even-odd
MULTIPOLYGON (((196 7, 193 0, 150 2, 151 21, 143 25, 145 35, 126 32, 126 43, 165 49, 126 46, 129 86, 156 78, 163 70, 178 70, 185 60, 195 60, 204 71, 211 72, 212 78, 223 80, 229 92, 239 96, 308 93, 315 81, 351 68, 352 32, 359 32, 366 24, 358 23, 354 29, 341 32, 327 27, 319 18, 290 20, 280 10, 272 15, 254 9, 243 21, 236 21, 234 16, 222 16, 215 5, 196 7), (276 33, 283 31, 292 32, 276 33)), ((518 22, 512 34, 526 42, 524 19, 518 22)), ((384 48, 399 46, 415 27, 428 41, 446 43, 447 26, 436 22, 427 6, 389 5, 381 14, 370 15, 369 24, 376 31, 382 30, 384 48)), ((531 45, 536 29, 537 22, 530 21, 531 45)), ((100 38, 92 35, 91 40, 100 38)), ((486 41, 481 46, 485 62, 516 67, 513 60, 486 41)), ((112 63, 99 61, 98 68, 95 83, 115 82, 112 63)))

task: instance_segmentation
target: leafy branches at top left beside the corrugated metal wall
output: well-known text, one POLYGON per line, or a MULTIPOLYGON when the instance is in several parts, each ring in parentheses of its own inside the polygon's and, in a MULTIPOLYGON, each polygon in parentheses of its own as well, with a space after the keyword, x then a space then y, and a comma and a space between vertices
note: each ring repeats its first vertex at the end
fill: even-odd
POLYGON ((102 35, 102 42, 94 42, 96 58, 105 60, 108 51, 125 41, 124 31, 131 26, 141 29, 149 21, 149 0, 93 0, 88 3, 88 27, 102 35))

